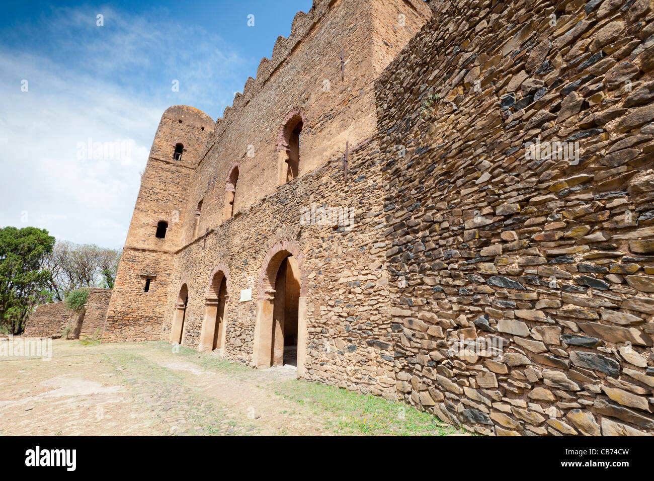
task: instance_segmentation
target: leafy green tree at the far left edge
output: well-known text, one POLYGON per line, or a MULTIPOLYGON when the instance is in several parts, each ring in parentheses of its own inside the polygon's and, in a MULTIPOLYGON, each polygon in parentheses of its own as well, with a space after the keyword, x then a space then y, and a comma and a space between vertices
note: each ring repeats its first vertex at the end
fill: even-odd
POLYGON ((50 272, 44 269, 54 237, 45 229, 0 229, 0 329, 23 332, 32 308, 43 300, 50 272))

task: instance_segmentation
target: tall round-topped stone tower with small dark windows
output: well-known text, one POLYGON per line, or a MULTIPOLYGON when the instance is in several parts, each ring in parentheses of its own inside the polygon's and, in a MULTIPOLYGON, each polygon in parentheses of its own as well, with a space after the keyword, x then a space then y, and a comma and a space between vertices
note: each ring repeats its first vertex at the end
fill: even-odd
POLYGON ((188 186, 213 127, 211 117, 193 107, 175 105, 163 113, 120 258, 105 340, 160 338, 175 249, 182 240, 181 226, 186 217, 194 216, 194 211, 184 210, 188 186), (179 159, 173 156, 177 143, 184 145, 179 159), (156 237, 160 221, 168 225, 164 238, 156 237), (146 292, 147 279, 152 288, 146 292))

